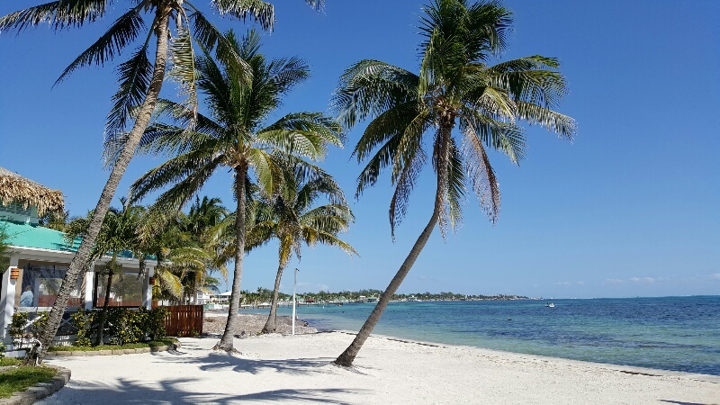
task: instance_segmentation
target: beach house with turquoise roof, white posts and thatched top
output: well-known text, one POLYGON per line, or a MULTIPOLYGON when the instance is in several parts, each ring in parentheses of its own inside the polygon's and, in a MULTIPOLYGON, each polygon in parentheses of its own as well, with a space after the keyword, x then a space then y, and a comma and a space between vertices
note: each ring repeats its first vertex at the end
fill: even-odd
MULTIPOLYGON (((68 244, 62 232, 41 227, 39 217, 64 209, 63 195, 58 190, 0 167, 0 230, 9 245, 0 282, 0 338, 5 342, 12 340, 7 329, 16 311, 36 314, 49 311, 55 302, 80 240, 68 244)), ((102 257, 78 278, 67 311, 103 306, 107 275, 100 270, 110 259, 102 257)), ((146 260, 145 269, 140 269, 138 258, 130 252, 123 252, 117 261, 122 271, 113 278, 108 305, 150 308, 150 280, 157 262, 146 260)))

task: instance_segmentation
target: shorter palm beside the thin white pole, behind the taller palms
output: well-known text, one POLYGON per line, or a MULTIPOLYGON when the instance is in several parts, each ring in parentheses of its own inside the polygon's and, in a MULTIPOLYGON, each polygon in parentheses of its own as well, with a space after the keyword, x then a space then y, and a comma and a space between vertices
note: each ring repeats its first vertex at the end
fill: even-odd
POLYGON ((257 223, 253 230, 279 241, 279 264, 273 301, 270 315, 263 327, 263 333, 273 333, 277 328, 280 280, 293 253, 300 260, 302 243, 310 247, 318 243, 339 247, 350 256, 357 252, 338 238, 338 233, 347 231, 355 216, 347 206, 342 189, 332 176, 319 173, 314 178, 305 180, 301 170, 294 170, 293 176, 285 182, 283 191, 267 204, 274 213, 273 217, 257 223), (327 198, 329 203, 313 207, 320 197, 327 198))

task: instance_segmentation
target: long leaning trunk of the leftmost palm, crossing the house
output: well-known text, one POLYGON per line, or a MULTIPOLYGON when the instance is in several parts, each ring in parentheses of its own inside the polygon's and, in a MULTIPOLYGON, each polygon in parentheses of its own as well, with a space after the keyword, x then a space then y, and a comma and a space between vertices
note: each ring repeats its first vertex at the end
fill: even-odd
POLYGON ((135 124, 132 126, 132 130, 130 130, 128 141, 122 147, 120 157, 118 157, 115 165, 112 166, 110 177, 103 188, 103 193, 100 194, 100 199, 94 209, 93 219, 90 220, 90 225, 88 226, 85 238, 83 238, 82 243, 80 243, 80 247, 77 249, 75 257, 73 257, 72 262, 67 269, 67 274, 60 285, 58 297, 55 299, 55 303, 49 313, 48 323, 40 332, 39 338, 42 343, 40 361, 42 360, 44 351, 49 347, 52 343, 52 339, 55 338, 55 335, 58 333, 60 320, 62 320, 63 313, 65 313, 65 309, 67 307, 67 300, 70 297, 70 293, 72 293, 76 287, 77 276, 80 275, 81 271, 86 266, 87 258, 90 256, 90 250, 97 239, 98 233, 100 233, 100 228, 103 225, 105 213, 107 213, 112 197, 114 196, 115 191, 117 191, 122 175, 125 174, 125 169, 128 167, 128 164, 130 164, 130 159, 132 159, 132 156, 135 154, 135 148, 138 147, 140 138, 145 132, 145 129, 148 127, 152 112, 155 110, 157 96, 160 94, 163 79, 165 78, 168 46, 167 27, 169 18, 169 8, 157 10, 155 19, 157 23, 155 26, 157 49, 155 52, 155 67, 153 68, 148 93, 145 94, 145 100, 139 108, 138 117, 135 120, 135 124))

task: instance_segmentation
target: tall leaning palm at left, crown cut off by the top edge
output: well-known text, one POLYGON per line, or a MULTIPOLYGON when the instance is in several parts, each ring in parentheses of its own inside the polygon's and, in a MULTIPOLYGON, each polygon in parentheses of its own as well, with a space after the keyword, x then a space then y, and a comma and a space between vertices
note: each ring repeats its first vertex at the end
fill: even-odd
MULTIPOLYGON (((55 0, 46 4, 19 10, 0 17, 0 32, 23 31, 48 23, 54 30, 62 31, 71 27, 82 27, 94 23, 112 9, 112 0, 55 0)), ((193 40, 204 49, 217 47, 227 52, 227 63, 237 62, 236 74, 247 73, 247 69, 233 55, 229 44, 215 26, 190 2, 186 0, 130 0, 130 8, 122 14, 98 40, 78 56, 59 76, 62 81, 77 68, 88 65, 104 65, 116 58, 123 49, 136 40, 141 45, 130 59, 118 67, 120 89, 112 97, 112 110, 108 114, 106 134, 109 139, 122 138, 121 148, 115 149, 112 170, 100 194, 94 216, 77 249, 76 256, 67 270, 58 293, 58 298, 49 314, 47 326, 40 332, 42 347, 49 347, 58 332, 67 299, 75 286, 95 239, 100 232, 105 213, 110 207, 112 196, 130 163, 139 139, 148 127, 155 110, 166 75, 168 55, 172 55, 172 75, 180 82, 183 92, 188 95, 189 105, 194 105, 195 69, 193 67, 193 40), (143 15, 148 16, 146 22, 143 15), (173 40, 171 22, 176 23, 173 40), (144 35, 144 40, 143 38, 144 35), (148 52, 155 37, 155 62, 150 63, 148 52), (134 119, 130 132, 123 132, 129 121, 134 119)), ((306 0, 306 3, 320 9, 323 0, 306 0)), ((229 15, 238 21, 247 16, 255 19, 264 29, 272 29, 275 12, 272 4, 262 0, 211 0, 211 5, 222 15, 229 15)), ((247 75, 245 76, 247 78, 247 75)), ((42 353, 40 353, 40 358, 42 353)))

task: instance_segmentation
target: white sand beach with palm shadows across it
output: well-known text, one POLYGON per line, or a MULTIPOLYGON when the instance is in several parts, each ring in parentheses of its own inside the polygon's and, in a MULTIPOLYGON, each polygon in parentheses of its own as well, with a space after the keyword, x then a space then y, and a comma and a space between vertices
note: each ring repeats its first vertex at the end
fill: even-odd
POLYGON ((243 355, 228 356, 210 350, 216 338, 183 338, 177 353, 55 358, 72 379, 40 403, 720 403, 717 376, 382 337, 368 339, 354 369, 330 365, 352 339, 236 339, 243 355))

